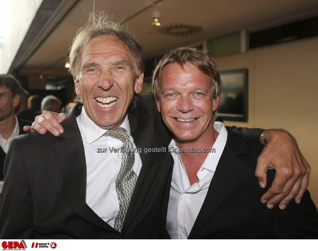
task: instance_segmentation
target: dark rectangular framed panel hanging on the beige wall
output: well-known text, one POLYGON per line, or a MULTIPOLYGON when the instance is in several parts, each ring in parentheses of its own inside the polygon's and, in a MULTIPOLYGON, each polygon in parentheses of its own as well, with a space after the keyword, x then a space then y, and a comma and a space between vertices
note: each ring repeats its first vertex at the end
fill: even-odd
POLYGON ((222 87, 218 118, 247 121, 247 78, 247 69, 221 72, 222 87))

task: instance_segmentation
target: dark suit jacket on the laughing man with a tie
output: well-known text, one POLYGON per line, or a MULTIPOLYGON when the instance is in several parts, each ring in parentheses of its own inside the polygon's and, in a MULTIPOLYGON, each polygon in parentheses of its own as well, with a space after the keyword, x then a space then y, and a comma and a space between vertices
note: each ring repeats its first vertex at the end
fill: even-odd
MULTIPOLYGON (((58 137, 32 132, 12 141, 4 169, 0 239, 162 237, 169 155, 142 151, 142 168, 122 231, 117 232, 86 204, 86 161, 76 122, 80 108, 62 122, 65 132, 58 137)), ((169 144, 153 97, 140 97, 128 118, 137 148, 169 144)))

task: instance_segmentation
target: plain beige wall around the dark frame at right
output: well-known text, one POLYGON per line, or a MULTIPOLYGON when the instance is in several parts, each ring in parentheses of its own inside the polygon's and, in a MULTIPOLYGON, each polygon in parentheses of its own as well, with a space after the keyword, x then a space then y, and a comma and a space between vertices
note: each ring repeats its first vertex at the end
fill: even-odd
POLYGON ((309 191, 318 204, 318 37, 216 58, 221 70, 247 68, 248 122, 226 125, 285 128, 312 167, 309 191))

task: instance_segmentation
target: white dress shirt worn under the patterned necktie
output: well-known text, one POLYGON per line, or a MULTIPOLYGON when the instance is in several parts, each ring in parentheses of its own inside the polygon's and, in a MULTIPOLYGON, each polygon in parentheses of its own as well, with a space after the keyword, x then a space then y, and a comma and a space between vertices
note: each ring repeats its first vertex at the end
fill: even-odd
MULTIPOLYGON (((113 227, 114 219, 119 210, 115 182, 121 168, 122 153, 120 151, 111 153, 109 148, 121 148, 123 143, 119 139, 102 136, 107 130, 100 128, 88 118, 84 106, 76 120, 85 150, 87 170, 86 204, 100 218, 113 227)), ((120 127, 126 129, 133 147, 136 149, 134 139, 130 135, 128 116, 126 116, 120 127)), ((135 152, 133 170, 137 177, 141 167, 140 155, 135 152)))

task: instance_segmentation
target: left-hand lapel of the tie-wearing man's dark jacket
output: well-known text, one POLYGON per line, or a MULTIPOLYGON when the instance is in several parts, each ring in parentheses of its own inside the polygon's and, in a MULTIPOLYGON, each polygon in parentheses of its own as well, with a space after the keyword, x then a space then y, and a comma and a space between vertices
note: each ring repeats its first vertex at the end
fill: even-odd
POLYGON ((65 132, 59 137, 63 140, 54 145, 67 197, 73 211, 80 217, 98 227, 117 232, 86 204, 86 159, 82 137, 76 122, 76 116, 80 111, 81 106, 78 104, 61 123, 65 132))

